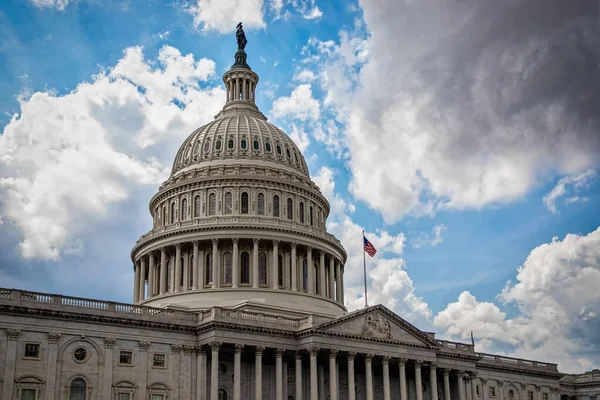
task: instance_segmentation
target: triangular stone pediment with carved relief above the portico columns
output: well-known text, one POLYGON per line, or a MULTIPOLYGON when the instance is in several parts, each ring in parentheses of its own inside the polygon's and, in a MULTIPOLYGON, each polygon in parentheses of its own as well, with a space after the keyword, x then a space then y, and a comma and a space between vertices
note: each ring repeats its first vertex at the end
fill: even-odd
POLYGON ((326 322, 318 331, 365 339, 382 339, 418 346, 437 346, 434 339, 382 305, 355 311, 326 322))

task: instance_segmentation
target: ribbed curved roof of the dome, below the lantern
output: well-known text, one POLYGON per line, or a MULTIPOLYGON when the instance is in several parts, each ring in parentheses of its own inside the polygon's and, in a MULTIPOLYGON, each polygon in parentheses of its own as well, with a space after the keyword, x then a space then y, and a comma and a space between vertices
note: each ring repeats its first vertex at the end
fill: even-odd
POLYGON ((223 160, 264 161, 310 177, 304 156, 285 132, 244 112, 220 116, 192 132, 177 152, 171 175, 223 160))

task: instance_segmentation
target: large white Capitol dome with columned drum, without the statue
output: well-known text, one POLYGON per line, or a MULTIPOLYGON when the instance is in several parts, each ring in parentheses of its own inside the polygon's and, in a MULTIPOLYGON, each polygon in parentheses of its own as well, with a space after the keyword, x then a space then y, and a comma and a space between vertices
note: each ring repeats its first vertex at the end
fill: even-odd
POLYGON ((347 255, 329 202, 293 140, 255 104, 258 75, 235 54, 214 121, 183 142, 132 250, 134 301, 163 308, 346 312, 347 255))

